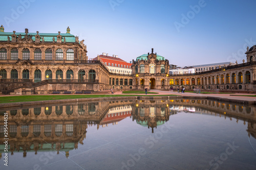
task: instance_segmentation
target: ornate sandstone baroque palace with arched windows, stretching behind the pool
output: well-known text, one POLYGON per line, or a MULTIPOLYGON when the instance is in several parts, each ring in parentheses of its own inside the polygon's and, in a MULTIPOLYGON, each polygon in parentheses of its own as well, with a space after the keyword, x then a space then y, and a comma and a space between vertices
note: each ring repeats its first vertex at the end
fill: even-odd
MULTIPOLYGON (((247 48, 246 62, 208 71, 169 75, 169 61, 154 53, 126 63, 117 56, 88 60, 84 40, 67 32, 4 32, 0 27, 0 90, 7 94, 85 93, 106 89, 256 90, 256 45, 247 48), (115 59, 114 62, 103 61, 115 59), (107 64, 106 64, 107 63, 107 64), (109 63, 117 64, 110 70, 109 63), (120 67, 118 67, 120 64, 120 67), (127 67, 128 66, 128 67, 127 67), (131 66, 131 68, 130 68, 131 66), (122 72, 119 70, 122 69, 122 72), (124 72, 123 72, 124 71, 124 72)), ((111 65, 112 66, 112 65, 111 65)))

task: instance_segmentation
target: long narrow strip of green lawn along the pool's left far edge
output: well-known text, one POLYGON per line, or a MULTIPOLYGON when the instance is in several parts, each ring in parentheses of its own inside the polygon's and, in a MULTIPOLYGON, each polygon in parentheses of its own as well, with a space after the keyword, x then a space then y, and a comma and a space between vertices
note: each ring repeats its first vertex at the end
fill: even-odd
MULTIPOLYGON (((19 95, 19 96, 1 96, 0 103, 48 101, 63 99, 82 99, 82 98, 105 98, 120 96, 168 96, 168 95, 131 95, 131 94, 97 94, 97 95, 19 95)), ((170 96, 170 95, 169 95, 170 96)))

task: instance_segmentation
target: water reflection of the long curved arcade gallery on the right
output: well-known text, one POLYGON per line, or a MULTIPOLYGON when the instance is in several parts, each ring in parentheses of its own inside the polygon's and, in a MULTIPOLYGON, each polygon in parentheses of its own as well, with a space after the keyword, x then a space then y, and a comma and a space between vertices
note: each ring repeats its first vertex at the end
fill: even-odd
POLYGON ((228 103, 228 102, 217 102, 211 100, 170 100, 170 108, 175 108, 175 111, 183 111, 190 113, 208 114, 215 115, 230 121, 233 119, 238 123, 239 120, 243 121, 246 125, 248 136, 256 138, 256 108, 254 106, 245 106, 242 104, 228 103), (187 111, 188 108, 194 108, 191 111, 187 111))

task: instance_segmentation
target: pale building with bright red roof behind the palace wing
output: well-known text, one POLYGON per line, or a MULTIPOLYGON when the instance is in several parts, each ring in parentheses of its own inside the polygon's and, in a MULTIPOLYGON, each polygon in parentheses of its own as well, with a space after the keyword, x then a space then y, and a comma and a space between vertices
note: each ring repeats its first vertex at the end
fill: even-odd
MULTIPOLYGON (((111 57, 109 54, 102 53, 102 55, 99 55, 99 59, 110 69, 110 72, 117 74, 132 74, 132 63, 127 63, 117 55, 111 57)), ((98 60, 98 57, 95 57, 93 60, 98 60)))

